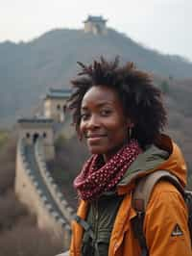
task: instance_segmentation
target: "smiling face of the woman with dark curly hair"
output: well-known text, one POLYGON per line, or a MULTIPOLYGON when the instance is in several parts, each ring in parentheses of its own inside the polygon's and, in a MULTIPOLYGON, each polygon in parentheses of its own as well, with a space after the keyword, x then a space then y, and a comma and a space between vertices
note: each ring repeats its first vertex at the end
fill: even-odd
POLYGON ((80 133, 90 153, 102 154, 108 161, 128 141, 130 125, 115 90, 97 86, 86 91, 81 106, 80 133))

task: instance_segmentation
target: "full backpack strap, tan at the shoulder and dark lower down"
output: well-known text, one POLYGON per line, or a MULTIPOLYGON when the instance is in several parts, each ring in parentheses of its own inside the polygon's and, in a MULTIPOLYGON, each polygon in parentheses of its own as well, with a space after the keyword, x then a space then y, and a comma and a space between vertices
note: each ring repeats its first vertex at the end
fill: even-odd
POLYGON ((150 196, 156 183, 160 180, 167 180, 172 183, 184 197, 184 190, 180 185, 179 179, 167 170, 158 170, 137 181, 136 187, 132 193, 132 207, 137 213, 136 217, 132 219, 132 229, 134 237, 140 244, 141 256, 149 255, 146 238, 143 232, 143 222, 150 196))

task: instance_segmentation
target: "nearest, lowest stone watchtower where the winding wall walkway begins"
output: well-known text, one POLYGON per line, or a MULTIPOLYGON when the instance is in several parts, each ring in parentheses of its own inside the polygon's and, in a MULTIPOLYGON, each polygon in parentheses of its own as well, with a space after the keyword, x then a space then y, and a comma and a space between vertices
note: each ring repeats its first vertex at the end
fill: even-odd
POLYGON ((46 117, 20 118, 17 120, 19 125, 19 139, 25 139, 27 143, 36 143, 38 138, 43 139, 45 158, 54 159, 54 120, 46 117))

